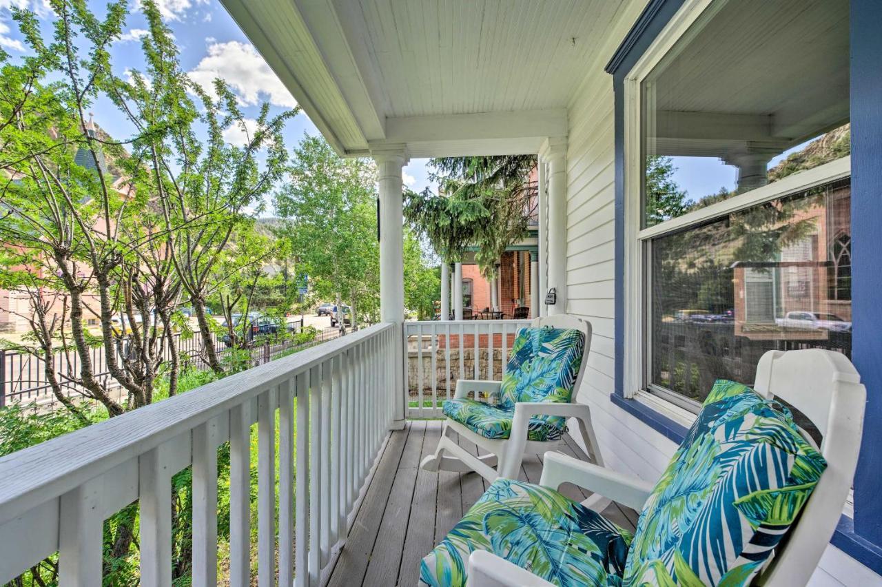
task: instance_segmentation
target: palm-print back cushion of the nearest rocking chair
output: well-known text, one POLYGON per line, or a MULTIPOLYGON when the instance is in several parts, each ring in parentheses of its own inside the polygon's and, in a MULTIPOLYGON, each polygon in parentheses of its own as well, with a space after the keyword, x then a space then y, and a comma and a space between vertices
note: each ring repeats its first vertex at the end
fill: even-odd
POLYGON ((718 381, 640 514, 624 585, 746 585, 826 468, 789 411, 718 381))

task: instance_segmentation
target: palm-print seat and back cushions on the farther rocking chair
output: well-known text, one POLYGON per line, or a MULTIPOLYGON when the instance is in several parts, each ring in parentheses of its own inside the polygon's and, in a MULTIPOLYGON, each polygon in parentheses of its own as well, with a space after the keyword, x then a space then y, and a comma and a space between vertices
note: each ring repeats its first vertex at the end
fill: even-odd
MULTIPOLYGON (((451 399, 445 402, 445 416, 486 438, 508 438, 516 403, 570 402, 584 349, 585 335, 578 330, 522 328, 514 339, 498 405, 451 399)), ((527 439, 557 440, 564 432, 564 418, 535 416, 530 419, 527 439)))

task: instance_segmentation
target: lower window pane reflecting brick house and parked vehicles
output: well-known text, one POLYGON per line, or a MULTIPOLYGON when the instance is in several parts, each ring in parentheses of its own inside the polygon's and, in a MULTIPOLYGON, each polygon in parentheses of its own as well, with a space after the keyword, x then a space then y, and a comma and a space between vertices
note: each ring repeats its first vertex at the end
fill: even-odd
POLYGON ((850 181, 651 242, 652 385, 695 405, 771 349, 851 353, 850 181))

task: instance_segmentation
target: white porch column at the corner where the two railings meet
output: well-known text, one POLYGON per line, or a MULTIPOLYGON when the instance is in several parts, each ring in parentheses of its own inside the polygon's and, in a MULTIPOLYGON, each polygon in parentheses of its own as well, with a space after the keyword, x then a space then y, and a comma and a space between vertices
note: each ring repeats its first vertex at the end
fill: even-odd
POLYGON ((404 215, 401 168, 407 164, 404 149, 371 151, 377 161, 380 190, 380 319, 396 324, 398 340, 394 361, 395 416, 392 427, 404 427, 404 215))

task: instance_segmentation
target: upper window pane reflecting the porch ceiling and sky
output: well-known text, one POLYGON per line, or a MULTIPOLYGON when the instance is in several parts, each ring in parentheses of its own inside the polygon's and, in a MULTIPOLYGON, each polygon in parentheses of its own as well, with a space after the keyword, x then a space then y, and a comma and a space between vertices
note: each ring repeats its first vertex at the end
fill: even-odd
POLYGON ((714 7, 642 85, 644 227, 850 152, 848 0, 714 7))

